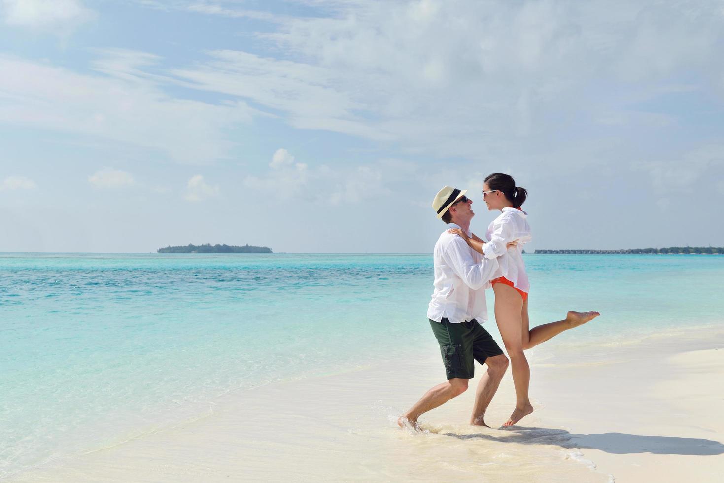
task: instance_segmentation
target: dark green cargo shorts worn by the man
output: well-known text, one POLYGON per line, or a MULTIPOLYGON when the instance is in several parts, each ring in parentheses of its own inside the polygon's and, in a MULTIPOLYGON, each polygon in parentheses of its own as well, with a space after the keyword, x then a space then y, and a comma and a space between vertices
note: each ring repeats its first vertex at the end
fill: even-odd
POLYGON ((440 345, 447 379, 472 379, 475 375, 473 359, 484 364, 485 359, 502 354, 500 345, 475 319, 460 324, 451 324, 447 318, 441 322, 430 320, 430 327, 440 345))

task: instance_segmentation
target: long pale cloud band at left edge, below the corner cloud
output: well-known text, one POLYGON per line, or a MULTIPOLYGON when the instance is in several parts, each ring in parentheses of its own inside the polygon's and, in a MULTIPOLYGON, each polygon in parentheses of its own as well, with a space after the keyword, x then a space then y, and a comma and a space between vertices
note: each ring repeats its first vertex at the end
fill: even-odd
POLYGON ((102 74, 79 74, 0 54, 0 123, 115 140, 187 164, 227 156, 226 131, 251 122, 244 101, 172 96, 166 77, 143 71, 156 56, 104 51, 102 74))

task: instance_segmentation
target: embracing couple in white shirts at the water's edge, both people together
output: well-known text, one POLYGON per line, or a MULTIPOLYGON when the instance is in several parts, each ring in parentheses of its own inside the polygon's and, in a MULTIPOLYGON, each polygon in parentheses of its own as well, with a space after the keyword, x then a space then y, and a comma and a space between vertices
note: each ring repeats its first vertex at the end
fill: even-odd
POLYGON ((435 244, 434 293, 427 317, 440 345, 447 382, 432 387, 397 421, 400 427, 419 430, 418 418, 468 389, 475 371, 474 361, 487 366, 475 393, 470 424, 487 426, 485 410, 500 385, 508 358, 515 385, 515 408, 509 427, 533 412, 528 396, 530 369, 523 350, 549 340, 567 329, 589 322, 598 312, 569 311, 565 319, 529 329, 529 282, 523 264, 523 245, 531 240, 527 214, 521 210, 527 191, 515 186, 509 175, 495 173, 485 178, 483 201, 489 211, 501 211, 481 240, 470 231, 475 216, 467 190, 445 186, 432 202, 437 217, 450 229, 435 244), (495 294, 497 323, 508 358, 479 320, 487 319, 485 289, 495 294))

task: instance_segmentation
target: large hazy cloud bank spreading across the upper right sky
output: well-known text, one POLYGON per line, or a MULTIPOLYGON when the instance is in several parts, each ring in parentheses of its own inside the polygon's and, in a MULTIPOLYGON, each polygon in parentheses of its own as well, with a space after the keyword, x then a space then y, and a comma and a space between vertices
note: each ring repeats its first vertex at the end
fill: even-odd
MULTIPOLYGON (((601 123, 626 135, 632 123, 674 125, 685 113, 632 106, 680 76, 711 95, 724 74, 712 62, 724 41, 713 0, 304 3, 319 14, 277 16, 256 34, 279 58, 216 50, 172 75, 292 127, 393 141, 408 153, 487 156, 601 123)), ((215 5, 231 14, 221 6, 233 3, 215 5)))

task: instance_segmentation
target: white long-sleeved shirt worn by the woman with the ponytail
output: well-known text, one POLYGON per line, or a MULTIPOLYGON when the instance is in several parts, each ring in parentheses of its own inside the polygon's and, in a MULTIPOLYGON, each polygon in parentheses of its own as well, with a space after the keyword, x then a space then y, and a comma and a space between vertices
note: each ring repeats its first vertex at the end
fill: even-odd
POLYGON ((523 245, 531 240, 531 227, 526 220, 528 214, 515 208, 503 208, 502 213, 492 221, 485 235, 489 241, 483 245, 483 253, 487 259, 496 259, 499 268, 492 278, 505 277, 513 282, 515 288, 528 293, 531 284, 523 263, 523 245), (518 248, 507 250, 505 245, 516 241, 518 248))

